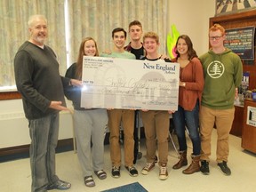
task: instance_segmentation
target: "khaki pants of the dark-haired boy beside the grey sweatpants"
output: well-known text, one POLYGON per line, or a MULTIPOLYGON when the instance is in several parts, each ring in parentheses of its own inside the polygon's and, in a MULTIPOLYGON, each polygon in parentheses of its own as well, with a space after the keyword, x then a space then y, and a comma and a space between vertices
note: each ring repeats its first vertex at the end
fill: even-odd
POLYGON ((108 110, 110 158, 113 166, 119 167, 121 165, 121 148, 119 143, 121 121, 124 127, 124 165, 132 166, 134 158, 134 110, 108 110))

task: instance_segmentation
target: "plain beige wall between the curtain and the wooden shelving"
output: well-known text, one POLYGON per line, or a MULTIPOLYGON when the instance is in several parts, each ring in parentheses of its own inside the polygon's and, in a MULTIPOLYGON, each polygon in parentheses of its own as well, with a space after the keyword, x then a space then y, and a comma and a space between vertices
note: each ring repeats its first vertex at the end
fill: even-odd
POLYGON ((188 35, 199 55, 208 50, 209 18, 214 17, 215 0, 169 0, 167 32, 175 25, 188 35))

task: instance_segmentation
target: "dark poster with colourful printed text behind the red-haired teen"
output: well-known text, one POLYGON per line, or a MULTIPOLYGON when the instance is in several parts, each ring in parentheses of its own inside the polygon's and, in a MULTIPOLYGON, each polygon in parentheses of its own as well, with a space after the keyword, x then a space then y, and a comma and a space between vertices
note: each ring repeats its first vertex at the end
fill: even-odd
POLYGON ((241 60, 254 60, 254 34, 254 26, 227 29, 224 46, 235 52, 241 60))

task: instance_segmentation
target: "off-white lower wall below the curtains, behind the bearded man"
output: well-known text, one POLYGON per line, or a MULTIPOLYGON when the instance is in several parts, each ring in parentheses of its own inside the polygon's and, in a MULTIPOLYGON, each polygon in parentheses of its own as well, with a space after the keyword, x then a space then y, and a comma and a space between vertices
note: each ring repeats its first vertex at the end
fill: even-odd
MULTIPOLYGON (((71 102, 67 100, 68 108, 71 102)), ((60 112, 59 140, 73 137, 72 116, 60 112)), ((30 143, 28 120, 24 116, 22 100, 0 100, 0 148, 27 145, 30 143)))

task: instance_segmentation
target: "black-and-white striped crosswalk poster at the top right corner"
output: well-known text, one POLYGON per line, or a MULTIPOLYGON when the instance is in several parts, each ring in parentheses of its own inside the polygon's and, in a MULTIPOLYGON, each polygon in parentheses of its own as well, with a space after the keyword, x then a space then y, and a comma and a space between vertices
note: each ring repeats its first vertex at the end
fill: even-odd
POLYGON ((216 0, 215 15, 244 12, 255 8, 254 0, 216 0))

